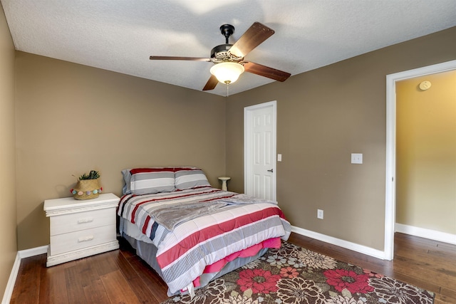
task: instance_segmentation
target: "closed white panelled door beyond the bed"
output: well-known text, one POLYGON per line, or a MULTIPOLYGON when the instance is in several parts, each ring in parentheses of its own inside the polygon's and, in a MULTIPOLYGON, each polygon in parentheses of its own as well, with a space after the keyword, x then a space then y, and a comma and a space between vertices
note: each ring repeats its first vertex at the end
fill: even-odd
POLYGON ((244 108, 245 193, 276 200, 276 101, 244 108))

